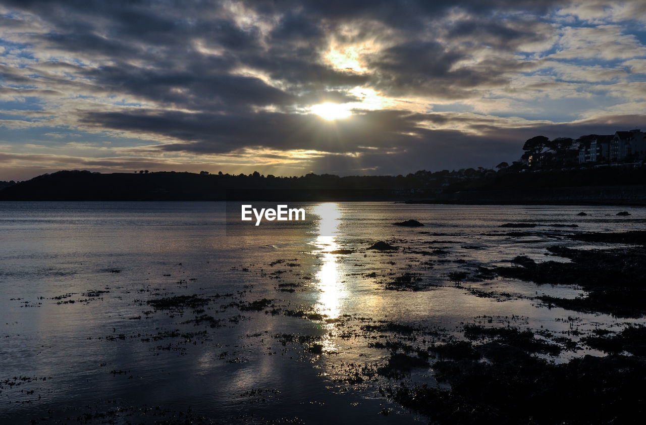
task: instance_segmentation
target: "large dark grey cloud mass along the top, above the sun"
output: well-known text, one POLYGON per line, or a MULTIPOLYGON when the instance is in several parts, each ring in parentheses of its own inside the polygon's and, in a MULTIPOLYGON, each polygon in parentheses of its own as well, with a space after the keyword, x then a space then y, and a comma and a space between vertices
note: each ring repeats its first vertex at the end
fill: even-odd
MULTIPOLYGON (((503 70, 510 70, 510 61, 481 63, 478 67, 462 67, 451 70, 460 59, 468 59, 473 51, 468 47, 447 48, 432 41, 419 41, 417 32, 428 32, 429 22, 439 21, 449 10, 463 8, 482 14, 510 7, 512 2, 464 1, 464 2, 415 2, 395 1, 313 1, 307 3, 292 1, 239 3, 249 11, 258 14, 257 19, 266 20, 273 28, 269 34, 261 34, 258 26, 241 28, 221 3, 202 2, 161 2, 161 1, 114 1, 109 6, 101 1, 6 1, 8 5, 37 14, 52 30, 45 34, 33 34, 34 43, 43 47, 63 50, 87 57, 109 57, 116 62, 113 67, 102 67, 92 72, 92 78, 114 91, 132 91, 132 84, 151 85, 151 90, 133 90, 141 96, 160 101, 170 98, 161 87, 161 80, 181 77, 180 72, 191 73, 183 76, 185 81, 201 81, 196 84, 198 93, 213 96, 220 90, 222 103, 240 105, 245 99, 249 105, 282 103, 275 90, 258 87, 258 81, 249 80, 249 90, 258 90, 258 96, 245 94, 240 85, 232 83, 232 90, 225 90, 227 82, 222 74, 233 67, 253 67, 266 72, 277 81, 284 81, 282 100, 297 95, 300 90, 326 90, 349 88, 371 81, 375 87, 388 94, 399 96, 411 92, 425 92, 440 96, 464 98, 470 88, 483 83, 503 85, 508 80, 503 70), (286 12, 287 11, 287 12, 286 12), (277 18, 275 18, 277 17, 277 18), (277 20, 277 23, 275 22, 277 20), (320 61, 320 50, 327 38, 337 34, 339 26, 347 24, 355 28, 357 37, 379 37, 367 23, 379 21, 386 28, 399 32, 401 43, 388 48, 371 61, 375 76, 361 76, 335 70, 320 61), (364 27, 365 26, 365 27, 364 27), (411 33, 413 35, 411 35, 411 33), (220 51, 221 54, 206 56, 196 52, 195 43, 200 40, 205 48, 220 51), (144 62, 140 69, 132 69, 132 62, 144 62), (494 66, 495 65, 495 66, 494 66), (114 67, 120 68, 118 72, 114 67), (150 68, 154 71, 151 72, 150 68), (167 76, 161 74, 167 73, 167 76), (220 76, 214 74, 220 74, 220 76), (121 74, 121 75, 120 75, 121 74), (129 74, 129 75, 123 75, 129 74), (133 75, 139 74, 139 75, 133 75), (115 84, 114 78, 124 77, 123 84, 115 84), (150 78, 147 80, 147 78, 150 78), (213 79, 214 84, 205 83, 213 79), (220 81, 218 81, 220 80, 220 81), (235 87, 235 89, 233 89, 235 87), (232 92, 240 90, 241 96, 232 92), (466 90, 466 91, 465 91, 466 90), (143 93, 142 93, 143 92, 143 93), (267 101, 259 98, 267 96, 267 101)), ((238 4, 238 3, 235 3, 238 4)), ((518 7, 517 3, 513 3, 518 7)), ((521 8, 545 8, 550 2, 525 2, 521 8)), ((251 19, 251 18, 249 18, 251 19)), ((254 18, 256 19, 256 18, 254 18)), ((253 19, 252 19, 253 21, 253 19)), ((470 37, 483 40, 497 47, 508 47, 528 38, 540 38, 540 34, 500 23, 464 21, 450 30, 450 37, 470 37), (503 46, 504 45, 504 46, 503 46)), ((431 36, 433 34, 430 34, 431 36)), ((472 47, 472 49, 477 46, 472 47)), ((163 83, 163 81, 161 81, 163 83)), ((182 82, 179 82, 182 85, 182 82)), ((189 91, 191 87, 189 87, 189 91)), ((193 92, 191 94, 194 94, 193 92)), ((189 95, 190 96, 190 95, 189 95)), ((206 105, 208 101, 191 101, 206 105)), ((215 105, 218 102, 214 103, 215 105)))

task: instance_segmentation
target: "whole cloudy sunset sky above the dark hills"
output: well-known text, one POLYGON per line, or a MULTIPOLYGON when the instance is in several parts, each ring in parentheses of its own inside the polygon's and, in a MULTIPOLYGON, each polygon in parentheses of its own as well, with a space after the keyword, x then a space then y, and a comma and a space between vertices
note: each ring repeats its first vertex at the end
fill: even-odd
POLYGON ((643 0, 0 0, 0 180, 405 175, 636 128, 643 0))

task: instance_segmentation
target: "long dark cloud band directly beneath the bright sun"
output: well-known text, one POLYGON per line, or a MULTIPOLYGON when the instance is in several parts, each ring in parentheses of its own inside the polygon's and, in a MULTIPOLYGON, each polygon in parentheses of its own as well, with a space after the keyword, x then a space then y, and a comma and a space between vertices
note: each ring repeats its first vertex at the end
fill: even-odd
POLYGON ((246 114, 190 114, 185 112, 89 112, 83 123, 99 128, 154 132, 183 140, 160 145, 160 151, 227 153, 241 147, 313 149, 353 152, 359 146, 405 145, 416 138, 421 116, 404 111, 374 111, 339 121, 313 114, 262 112, 246 114), (404 133, 410 133, 405 136, 404 133))

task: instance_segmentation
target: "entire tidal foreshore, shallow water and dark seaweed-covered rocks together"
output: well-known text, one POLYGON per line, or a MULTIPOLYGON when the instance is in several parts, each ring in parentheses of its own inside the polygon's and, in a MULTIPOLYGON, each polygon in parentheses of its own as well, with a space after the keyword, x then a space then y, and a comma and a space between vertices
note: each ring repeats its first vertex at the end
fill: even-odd
POLYGON ((298 207, 1 203, 0 422, 640 418, 646 209, 298 207))

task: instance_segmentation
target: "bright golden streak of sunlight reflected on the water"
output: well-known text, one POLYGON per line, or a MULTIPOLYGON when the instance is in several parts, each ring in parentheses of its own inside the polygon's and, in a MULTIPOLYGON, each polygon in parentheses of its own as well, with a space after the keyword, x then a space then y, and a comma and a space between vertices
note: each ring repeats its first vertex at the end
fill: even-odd
MULTIPOLYGON (((320 250, 322 261, 316 275, 318 289, 321 291, 318 297, 319 310, 328 318, 337 318, 340 315, 341 300, 346 293, 337 263, 338 254, 333 254, 333 251, 339 249, 336 238, 339 235, 342 212, 339 209, 339 204, 335 202, 320 203, 313 208, 312 212, 319 217, 318 235, 313 242, 320 250)), ((333 337, 335 329, 333 324, 328 324, 327 327, 328 334, 324 340, 324 348, 333 350, 334 345, 331 342, 331 337, 333 337)))

